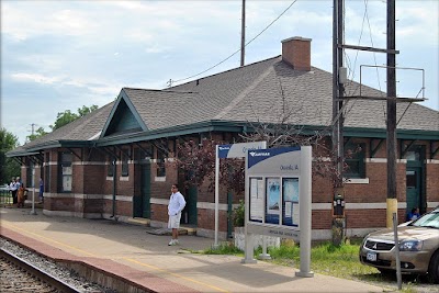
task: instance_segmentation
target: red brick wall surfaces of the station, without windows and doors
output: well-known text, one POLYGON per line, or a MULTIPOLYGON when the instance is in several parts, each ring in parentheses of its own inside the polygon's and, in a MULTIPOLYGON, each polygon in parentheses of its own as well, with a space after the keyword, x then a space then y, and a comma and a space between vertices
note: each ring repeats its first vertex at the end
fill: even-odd
MULTIPOLYGON (((354 143, 364 143, 367 157, 370 157, 371 150, 369 149, 369 142, 367 139, 354 139, 354 143)), ((418 143, 418 142, 417 142, 418 143)), ((419 142, 423 143, 423 142, 419 142)), ((376 142, 374 146, 376 145, 376 142)), ((430 149, 435 149, 437 143, 429 147, 426 144, 426 156, 430 159, 430 149)), ((399 148, 398 148, 399 149, 399 148)), ((56 193, 58 190, 58 151, 61 149, 52 149, 46 154, 49 155, 49 192, 56 193)), ((72 193, 78 194, 113 194, 113 181, 106 180, 106 166, 103 165, 106 156, 100 151, 78 151, 78 154, 91 154, 83 161, 85 165, 74 165, 74 184, 72 193)), ((369 183, 363 184, 346 184, 345 195, 346 202, 349 204, 358 204, 354 209, 346 210, 346 219, 348 228, 368 228, 368 227, 384 227, 385 226, 385 209, 368 209, 369 203, 379 204, 384 206, 386 202, 386 162, 380 161, 380 158, 385 158, 386 149, 385 144, 378 149, 374 158, 368 160, 365 164, 365 173, 369 183), (362 206, 361 206, 362 205, 362 206), (364 209, 362 209, 364 207, 364 209)), ((397 156, 399 157, 399 155, 397 156)), ((72 156, 74 161, 80 161, 76 156, 72 156)), ((439 159, 439 154, 436 154, 436 160, 439 159)), ((140 192, 140 168, 135 161, 128 165, 130 176, 128 180, 121 180, 122 166, 119 162, 116 166, 116 194, 117 195, 134 195, 140 192)), ((26 180, 25 168, 22 168, 21 177, 23 182, 26 180)), ((35 178, 40 178, 40 168, 36 169, 35 178)), ((426 165, 426 196, 429 202, 439 201, 439 164, 437 161, 428 161, 426 165)), ((406 198, 406 164, 399 161, 397 164, 397 200, 405 202, 406 198)), ((37 181, 36 181, 37 182, 37 181)), ((177 169, 172 164, 166 165, 165 181, 156 181, 156 164, 151 164, 151 198, 168 200, 170 194, 170 187, 172 183, 178 182, 177 169)), ((181 182, 180 182, 181 183, 181 182)), ((184 188, 180 184, 180 191, 185 195, 184 188)), ((47 198, 45 199, 45 209, 52 211, 66 211, 66 212, 85 212, 85 213, 105 213, 112 214, 113 202, 112 200, 92 200, 92 199, 74 199, 69 198, 70 194, 64 194, 65 198, 47 198)), ((72 196, 72 195, 71 195, 72 196)), ((244 194, 234 194, 233 203, 238 203, 239 199, 244 199, 244 194)), ((198 202, 214 203, 214 191, 209 190, 209 182, 200 188, 198 192, 198 202)), ((322 210, 313 211, 313 228, 314 229, 329 229, 333 219, 330 207, 328 204, 333 201, 333 187, 329 179, 322 177, 313 177, 313 204, 324 203, 322 210), (326 205, 325 205, 326 203, 326 205)), ((219 203, 227 203, 227 192, 224 187, 219 187, 219 203)), ((212 205, 213 206, 213 205, 212 205)), ((151 219, 159 222, 168 222, 167 205, 166 204, 151 204, 151 219)), ((204 210, 198 209, 198 226, 204 229, 214 229, 215 215, 214 209, 204 210)), ((133 203, 130 201, 117 201, 116 214, 132 216, 133 203)), ((398 211, 398 218, 404 221, 405 209, 398 211)), ((227 230, 227 211, 219 211, 219 230, 227 230)))

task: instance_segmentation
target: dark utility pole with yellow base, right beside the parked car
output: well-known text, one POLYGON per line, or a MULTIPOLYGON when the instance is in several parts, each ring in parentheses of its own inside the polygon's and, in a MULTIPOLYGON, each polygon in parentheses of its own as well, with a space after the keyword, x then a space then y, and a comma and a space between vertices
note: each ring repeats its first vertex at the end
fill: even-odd
POLYGON ((386 226, 392 227, 393 213, 397 213, 396 199, 396 55, 395 0, 387 0, 387 201, 386 226))

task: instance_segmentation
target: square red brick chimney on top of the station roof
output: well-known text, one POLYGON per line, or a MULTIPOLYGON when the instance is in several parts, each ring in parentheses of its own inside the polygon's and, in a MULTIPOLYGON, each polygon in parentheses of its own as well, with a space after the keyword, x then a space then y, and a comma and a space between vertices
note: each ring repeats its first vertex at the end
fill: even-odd
POLYGON ((311 70, 311 38, 294 36, 282 41, 282 60, 295 70, 311 70))

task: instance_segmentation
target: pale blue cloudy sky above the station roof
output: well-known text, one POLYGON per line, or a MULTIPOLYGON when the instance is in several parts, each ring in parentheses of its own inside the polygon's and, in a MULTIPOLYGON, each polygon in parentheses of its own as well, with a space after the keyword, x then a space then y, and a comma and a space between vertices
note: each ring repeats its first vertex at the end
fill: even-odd
MULTIPOLYGON (((0 3, 0 123, 21 145, 32 129, 49 132, 59 112, 103 106, 124 87, 165 89, 240 65, 241 0, 0 3)), ((434 110, 438 11, 437 0, 396 0, 397 95, 424 97, 418 103, 434 110)), ((312 38, 312 66, 333 71, 333 0, 246 0, 245 20, 246 65, 302 36, 312 38)), ((385 1, 346 0, 345 44, 386 47, 385 1)), ((350 79, 361 72, 362 83, 386 90, 385 54, 345 55, 350 79)))

